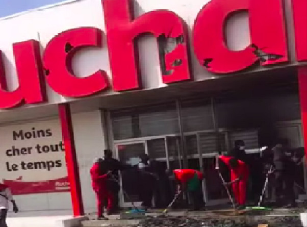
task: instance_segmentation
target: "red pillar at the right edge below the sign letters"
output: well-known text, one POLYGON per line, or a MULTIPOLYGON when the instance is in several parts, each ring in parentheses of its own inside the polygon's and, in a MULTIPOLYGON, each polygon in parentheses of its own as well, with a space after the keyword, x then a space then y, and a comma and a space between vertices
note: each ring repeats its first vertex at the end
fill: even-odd
POLYGON ((307 66, 298 66, 298 85, 300 95, 301 119, 307 161, 307 66))

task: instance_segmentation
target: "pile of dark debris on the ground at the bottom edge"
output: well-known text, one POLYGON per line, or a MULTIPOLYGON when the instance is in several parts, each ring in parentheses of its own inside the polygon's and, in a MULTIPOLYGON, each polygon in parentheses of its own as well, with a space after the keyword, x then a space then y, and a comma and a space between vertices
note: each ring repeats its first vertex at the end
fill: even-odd
POLYGON ((159 216, 150 217, 141 221, 138 227, 249 227, 243 221, 226 219, 194 219, 189 217, 159 216))

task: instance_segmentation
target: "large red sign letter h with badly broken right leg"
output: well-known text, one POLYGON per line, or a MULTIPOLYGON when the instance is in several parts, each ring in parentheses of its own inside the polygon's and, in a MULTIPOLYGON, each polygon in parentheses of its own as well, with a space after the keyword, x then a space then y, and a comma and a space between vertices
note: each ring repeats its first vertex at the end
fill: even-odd
POLYGON ((157 38, 165 36, 177 40, 173 51, 165 54, 165 62, 160 62, 165 66, 165 71, 162 71, 163 82, 190 79, 187 32, 180 17, 167 10, 158 10, 133 20, 130 12, 132 0, 104 0, 103 5, 114 90, 140 87, 134 41, 145 33, 153 34, 157 38))

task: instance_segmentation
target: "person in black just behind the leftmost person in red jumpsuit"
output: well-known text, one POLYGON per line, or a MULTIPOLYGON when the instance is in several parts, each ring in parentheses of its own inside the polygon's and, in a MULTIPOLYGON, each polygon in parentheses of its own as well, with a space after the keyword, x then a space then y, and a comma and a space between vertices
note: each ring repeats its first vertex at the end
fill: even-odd
POLYGON ((105 171, 110 170, 112 171, 112 178, 107 180, 107 189, 111 192, 114 196, 114 205, 112 206, 114 210, 108 211, 108 215, 118 213, 119 211, 119 199, 118 193, 120 191, 119 185, 119 172, 120 170, 124 170, 129 168, 127 165, 121 164, 117 159, 112 157, 112 150, 105 149, 105 158, 104 161, 100 164, 100 171, 101 173, 105 173, 105 171))

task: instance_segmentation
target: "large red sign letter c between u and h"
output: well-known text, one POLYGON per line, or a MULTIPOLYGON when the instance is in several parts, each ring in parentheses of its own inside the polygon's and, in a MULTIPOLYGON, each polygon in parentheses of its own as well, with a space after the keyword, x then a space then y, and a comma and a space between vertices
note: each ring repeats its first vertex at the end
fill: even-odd
POLYGON ((88 46, 102 46, 102 32, 96 28, 72 29, 54 37, 44 52, 47 82, 57 93, 67 97, 83 97, 107 88, 107 74, 98 70, 86 78, 73 75, 74 54, 88 46))

